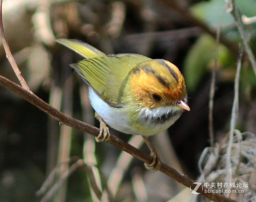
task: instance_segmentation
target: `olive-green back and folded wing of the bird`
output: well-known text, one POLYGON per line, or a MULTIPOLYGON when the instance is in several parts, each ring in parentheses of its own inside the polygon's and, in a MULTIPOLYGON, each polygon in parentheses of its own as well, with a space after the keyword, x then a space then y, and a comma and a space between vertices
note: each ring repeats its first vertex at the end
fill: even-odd
POLYGON ((105 102, 112 107, 121 107, 123 103, 119 95, 132 69, 148 60, 150 58, 137 54, 118 54, 84 59, 70 66, 105 102))

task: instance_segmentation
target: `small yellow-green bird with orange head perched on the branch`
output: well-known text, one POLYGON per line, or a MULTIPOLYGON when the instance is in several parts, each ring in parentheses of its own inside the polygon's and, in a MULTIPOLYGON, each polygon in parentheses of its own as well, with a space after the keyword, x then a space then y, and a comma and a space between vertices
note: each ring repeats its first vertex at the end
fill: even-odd
MULTIPOLYGON (((184 77, 171 62, 132 53, 106 55, 76 39, 56 41, 85 58, 70 66, 89 86, 89 99, 100 121, 97 142, 109 140, 107 125, 146 140, 190 111, 184 77)), ((158 155, 152 156, 160 161, 158 155)))

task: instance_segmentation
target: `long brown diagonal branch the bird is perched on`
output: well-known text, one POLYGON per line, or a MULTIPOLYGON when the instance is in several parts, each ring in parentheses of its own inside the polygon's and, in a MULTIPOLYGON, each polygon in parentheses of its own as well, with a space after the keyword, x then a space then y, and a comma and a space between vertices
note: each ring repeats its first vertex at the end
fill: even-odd
MULTIPOLYGON (((21 86, 15 84, 14 82, 10 81, 9 79, 3 77, 0 75, 0 85, 6 87, 7 89, 11 90, 15 94, 20 95, 23 99, 27 100, 31 104, 35 105, 37 108, 41 109, 44 111, 46 114, 52 116, 59 122, 68 125, 70 127, 76 128, 80 131, 84 131, 87 133, 90 133, 94 136, 97 136, 100 132, 99 128, 96 128, 92 125, 89 125, 87 123, 84 123, 82 121, 79 121, 75 118, 72 118, 70 116, 67 116, 66 114, 58 111, 57 109, 53 108, 50 106, 47 102, 43 101, 39 97, 37 97, 35 94, 33 94, 30 91, 25 90, 21 86)), ((141 152, 137 148, 133 147, 132 145, 129 145, 127 142, 124 140, 114 136, 110 135, 110 139, 108 142, 117 148, 124 150, 127 153, 130 153, 132 156, 135 158, 150 164, 152 162, 152 157, 141 152)), ((166 164, 162 163, 161 167, 159 169, 162 173, 172 177, 175 179, 177 182, 182 183, 183 185, 190 187, 192 189, 195 188, 196 184, 193 184, 195 181, 189 178, 188 176, 180 173, 179 171, 175 170, 174 168, 171 168, 167 166, 166 164)), ((198 193, 201 193, 204 195, 206 198, 210 198, 213 201, 220 202, 220 201, 225 201, 225 202, 237 202, 236 200, 226 198, 225 196, 219 194, 219 193, 211 193, 211 191, 208 191, 210 189, 205 188, 204 186, 200 186, 200 188, 197 190, 198 193), (206 190, 206 191, 204 191, 206 190), (206 193, 205 193, 206 192, 206 193), (209 193, 210 192, 210 193, 209 193)))

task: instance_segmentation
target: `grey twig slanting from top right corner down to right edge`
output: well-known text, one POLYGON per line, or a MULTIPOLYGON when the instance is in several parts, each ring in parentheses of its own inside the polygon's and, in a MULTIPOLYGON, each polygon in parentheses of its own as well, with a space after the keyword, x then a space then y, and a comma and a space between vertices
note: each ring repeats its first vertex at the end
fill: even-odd
POLYGON ((237 29, 238 29, 239 34, 240 34, 240 36, 242 38, 242 41, 244 43, 244 49, 245 49, 245 51, 246 51, 246 53, 247 53, 247 55, 249 57, 249 60, 250 60, 250 62, 252 64, 252 69, 253 69, 254 74, 256 76, 256 60, 255 60, 255 57, 253 56, 252 49, 249 46, 249 42, 245 38, 244 29, 243 29, 243 23, 242 23, 242 20, 241 20, 241 18, 242 18, 241 17, 241 13, 240 13, 237 5, 236 5, 236 1, 235 0, 231 0, 231 4, 232 4, 233 9, 232 9, 232 11, 230 13, 233 15, 233 17, 234 17, 234 19, 236 21, 237 29))

